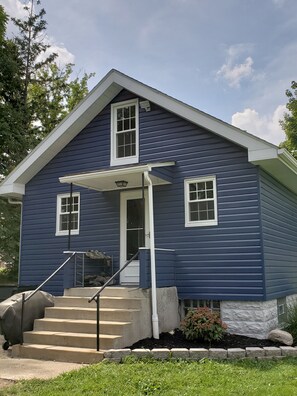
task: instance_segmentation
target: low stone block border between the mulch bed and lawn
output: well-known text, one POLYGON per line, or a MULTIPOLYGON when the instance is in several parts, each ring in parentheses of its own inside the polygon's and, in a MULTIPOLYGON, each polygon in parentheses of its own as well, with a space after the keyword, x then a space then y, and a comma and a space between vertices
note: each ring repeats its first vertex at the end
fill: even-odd
POLYGON ((155 348, 155 349, 109 349, 104 352, 105 361, 121 363, 127 356, 137 359, 201 360, 201 359, 278 359, 297 357, 297 347, 246 347, 246 348, 155 348))

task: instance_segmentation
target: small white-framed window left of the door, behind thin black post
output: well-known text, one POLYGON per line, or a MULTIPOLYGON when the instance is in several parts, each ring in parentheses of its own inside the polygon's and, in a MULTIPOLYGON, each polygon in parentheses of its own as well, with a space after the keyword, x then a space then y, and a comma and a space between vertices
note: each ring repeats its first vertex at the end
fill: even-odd
POLYGON ((74 193, 72 195, 72 205, 70 194, 61 194, 57 196, 56 235, 68 235, 70 227, 72 235, 79 233, 79 211, 79 193, 74 193))

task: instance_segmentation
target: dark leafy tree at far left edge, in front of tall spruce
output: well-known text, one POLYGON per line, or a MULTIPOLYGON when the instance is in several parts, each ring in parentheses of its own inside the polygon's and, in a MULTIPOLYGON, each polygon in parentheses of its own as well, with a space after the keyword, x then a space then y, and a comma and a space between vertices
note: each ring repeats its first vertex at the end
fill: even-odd
MULTIPOLYGON (((0 6, 0 180, 25 154, 22 133, 23 80, 17 46, 5 38, 8 16, 0 6)), ((20 207, 0 199, 0 260, 16 275, 19 251, 20 207)))

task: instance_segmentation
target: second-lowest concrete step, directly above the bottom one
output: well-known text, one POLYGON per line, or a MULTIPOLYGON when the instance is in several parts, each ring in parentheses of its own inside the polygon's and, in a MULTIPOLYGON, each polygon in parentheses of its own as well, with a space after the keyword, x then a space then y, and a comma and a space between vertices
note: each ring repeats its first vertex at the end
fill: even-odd
MULTIPOLYGON (((53 331, 28 331, 24 333, 25 344, 43 344, 75 348, 96 349, 96 334, 53 331)), ((121 348, 123 338, 119 335, 100 334, 100 350, 121 348)))

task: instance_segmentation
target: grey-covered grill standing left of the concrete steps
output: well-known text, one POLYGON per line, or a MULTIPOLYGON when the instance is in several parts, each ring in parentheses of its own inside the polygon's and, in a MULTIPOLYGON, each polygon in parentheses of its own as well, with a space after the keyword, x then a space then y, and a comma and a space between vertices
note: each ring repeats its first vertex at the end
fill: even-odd
MULTIPOLYGON (((10 345, 19 344, 22 340, 21 315, 22 315, 22 295, 28 297, 33 290, 15 294, 0 304, 0 334, 3 334, 5 342, 3 349, 8 349, 10 345)), ((23 318, 23 330, 33 330, 35 319, 44 316, 45 307, 52 307, 54 298, 51 294, 38 291, 26 304, 23 318)))

